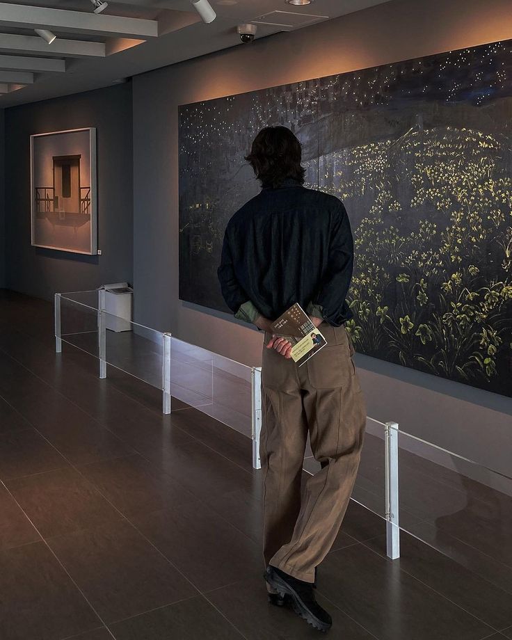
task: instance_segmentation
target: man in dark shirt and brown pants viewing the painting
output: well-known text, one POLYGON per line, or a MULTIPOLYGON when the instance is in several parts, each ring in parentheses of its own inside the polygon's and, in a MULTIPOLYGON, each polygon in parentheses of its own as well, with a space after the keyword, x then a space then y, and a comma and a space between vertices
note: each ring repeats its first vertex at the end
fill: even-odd
POLYGON ((349 218, 338 198, 305 189, 301 143, 266 127, 246 157, 262 190, 227 223, 218 278, 234 316, 264 331, 264 577, 269 600, 289 605, 321 631, 332 619, 316 601, 316 567, 349 504, 366 423, 365 402, 344 326, 353 269, 349 218), (271 323, 298 302, 327 344, 297 367, 291 342, 271 323), (319 470, 305 482, 310 433, 319 470))

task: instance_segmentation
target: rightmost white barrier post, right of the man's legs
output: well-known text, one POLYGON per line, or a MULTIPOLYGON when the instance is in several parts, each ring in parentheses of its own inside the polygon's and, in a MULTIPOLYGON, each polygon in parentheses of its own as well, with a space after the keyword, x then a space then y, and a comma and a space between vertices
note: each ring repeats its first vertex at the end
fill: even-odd
POLYGON ((387 557, 392 560, 400 557, 398 435, 399 428, 397 422, 386 422, 386 552, 387 557))

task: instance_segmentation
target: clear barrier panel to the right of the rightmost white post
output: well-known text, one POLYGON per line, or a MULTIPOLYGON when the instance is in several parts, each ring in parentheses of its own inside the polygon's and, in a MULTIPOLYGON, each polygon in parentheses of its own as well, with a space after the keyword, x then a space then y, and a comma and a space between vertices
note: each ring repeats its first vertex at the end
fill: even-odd
POLYGON ((512 479, 399 432, 400 528, 512 587, 512 479), (408 513, 408 518, 404 517, 408 513))

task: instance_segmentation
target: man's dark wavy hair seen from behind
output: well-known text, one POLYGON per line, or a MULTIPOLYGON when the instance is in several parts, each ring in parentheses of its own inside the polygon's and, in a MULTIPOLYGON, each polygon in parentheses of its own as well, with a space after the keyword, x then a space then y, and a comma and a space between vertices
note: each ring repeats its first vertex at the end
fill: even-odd
POLYGON ((301 143, 287 127, 265 127, 253 140, 246 160, 262 186, 279 186, 286 178, 304 182, 301 143))

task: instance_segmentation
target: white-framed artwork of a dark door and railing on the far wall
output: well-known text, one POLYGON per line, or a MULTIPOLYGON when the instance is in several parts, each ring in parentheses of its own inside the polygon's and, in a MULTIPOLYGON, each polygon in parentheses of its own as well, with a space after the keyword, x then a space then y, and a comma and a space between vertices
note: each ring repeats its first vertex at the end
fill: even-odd
POLYGON ((31 244, 97 253, 96 129, 30 136, 31 244))

